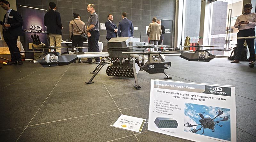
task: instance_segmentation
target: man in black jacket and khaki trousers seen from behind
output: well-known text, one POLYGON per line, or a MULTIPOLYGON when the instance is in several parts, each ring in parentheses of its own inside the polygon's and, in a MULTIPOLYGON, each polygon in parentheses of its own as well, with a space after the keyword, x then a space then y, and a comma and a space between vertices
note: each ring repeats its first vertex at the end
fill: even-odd
POLYGON ((46 33, 49 34, 50 37, 50 46, 61 46, 61 19, 60 13, 56 12, 56 4, 54 2, 49 3, 49 7, 51 8, 44 15, 44 26, 46 26, 46 33))

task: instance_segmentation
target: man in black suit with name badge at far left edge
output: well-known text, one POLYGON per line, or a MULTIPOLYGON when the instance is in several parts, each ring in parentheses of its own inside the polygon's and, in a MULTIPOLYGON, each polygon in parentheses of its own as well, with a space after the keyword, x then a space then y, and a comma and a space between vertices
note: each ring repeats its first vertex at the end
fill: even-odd
POLYGON ((10 3, 5 0, 0 1, 0 5, 4 10, 6 10, 6 14, 4 15, 4 21, 0 21, 0 24, 3 26, 3 36, 4 41, 9 47, 9 51, 11 53, 11 62, 4 65, 22 65, 22 60, 20 56, 20 50, 17 47, 17 39, 18 36, 23 35, 23 20, 20 15, 15 10, 10 8, 10 3), (17 52, 17 53, 14 53, 17 52))

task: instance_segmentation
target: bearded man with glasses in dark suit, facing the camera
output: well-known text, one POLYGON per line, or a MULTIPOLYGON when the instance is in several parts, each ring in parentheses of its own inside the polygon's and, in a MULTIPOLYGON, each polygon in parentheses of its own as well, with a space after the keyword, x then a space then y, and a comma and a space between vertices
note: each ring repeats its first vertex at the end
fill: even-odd
POLYGON ((109 41, 110 38, 116 37, 117 34, 117 28, 116 24, 112 22, 113 21, 113 15, 108 14, 108 20, 105 22, 105 27, 107 30, 107 37, 106 39, 109 41))

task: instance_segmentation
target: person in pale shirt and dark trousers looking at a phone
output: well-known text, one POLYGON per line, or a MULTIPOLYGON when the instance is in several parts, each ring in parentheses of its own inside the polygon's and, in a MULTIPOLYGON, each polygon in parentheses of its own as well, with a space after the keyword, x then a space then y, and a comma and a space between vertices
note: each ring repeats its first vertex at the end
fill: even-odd
MULTIPOLYGON (((256 26, 256 13, 251 12, 252 4, 248 3, 244 5, 244 13, 237 17, 235 28, 238 28, 239 32, 237 37, 255 36, 255 26, 256 26)), ((254 39, 237 39, 237 50, 236 57, 231 63, 239 63, 241 58, 241 53, 243 49, 244 40, 248 45, 250 51, 250 64, 255 61, 255 49, 254 49, 254 39)))

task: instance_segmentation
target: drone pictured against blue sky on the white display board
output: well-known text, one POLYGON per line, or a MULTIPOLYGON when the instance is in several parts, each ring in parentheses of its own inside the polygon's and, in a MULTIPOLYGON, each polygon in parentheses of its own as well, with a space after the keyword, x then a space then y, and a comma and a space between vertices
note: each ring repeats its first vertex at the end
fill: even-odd
POLYGON ((223 125, 219 125, 219 124, 217 124, 217 123, 220 123, 221 121, 227 121, 228 118, 230 118, 230 115, 227 115, 227 116, 220 117, 220 118, 222 118, 222 120, 214 121, 215 118, 217 118, 218 116, 220 116, 221 114, 223 114, 223 111, 224 111, 224 108, 218 109, 218 111, 216 112, 216 114, 217 114, 217 113, 218 113, 218 114, 217 114, 217 116, 215 116, 213 119, 210 118, 210 117, 204 117, 204 115, 203 115, 204 112, 203 112, 203 113, 198 113, 196 116, 200 116, 200 118, 201 118, 201 119, 199 120, 200 124, 193 125, 193 124, 187 122, 187 123, 184 124, 184 126, 190 128, 190 127, 194 127, 194 126, 199 126, 199 125, 201 125, 201 127, 200 127, 199 129, 196 129, 196 128, 197 128, 197 127, 196 127, 196 128, 194 128, 194 129, 192 129, 192 130, 189 130, 189 132, 192 132, 192 133, 196 133, 197 131, 202 130, 202 128, 203 128, 202 134, 204 134, 204 129, 207 129, 207 128, 208 128, 208 129, 211 129, 212 132, 214 132, 214 131, 215 131, 215 130, 214 130, 215 124, 218 125, 218 126, 220 126, 220 127, 222 127, 223 125))

